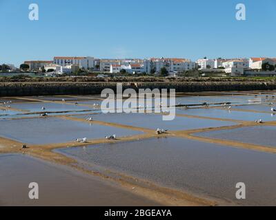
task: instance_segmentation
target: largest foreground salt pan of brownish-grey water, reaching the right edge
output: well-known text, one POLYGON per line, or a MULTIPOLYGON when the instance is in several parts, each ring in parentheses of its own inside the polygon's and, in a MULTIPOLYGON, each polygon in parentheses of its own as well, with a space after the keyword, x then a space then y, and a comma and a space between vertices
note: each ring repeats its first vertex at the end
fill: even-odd
POLYGON ((240 205, 276 205, 276 155, 270 153, 180 138, 66 148, 59 152, 162 186, 225 198, 240 205), (246 184, 246 200, 235 199, 238 182, 246 184))

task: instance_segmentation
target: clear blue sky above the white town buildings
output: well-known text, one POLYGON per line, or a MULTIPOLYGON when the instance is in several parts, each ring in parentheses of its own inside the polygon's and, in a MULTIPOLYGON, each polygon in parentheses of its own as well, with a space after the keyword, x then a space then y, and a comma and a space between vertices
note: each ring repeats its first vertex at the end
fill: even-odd
POLYGON ((0 63, 276 56, 275 0, 0 0, 0 63), (39 21, 28 19, 30 3, 39 21), (246 21, 235 5, 246 5, 246 21))

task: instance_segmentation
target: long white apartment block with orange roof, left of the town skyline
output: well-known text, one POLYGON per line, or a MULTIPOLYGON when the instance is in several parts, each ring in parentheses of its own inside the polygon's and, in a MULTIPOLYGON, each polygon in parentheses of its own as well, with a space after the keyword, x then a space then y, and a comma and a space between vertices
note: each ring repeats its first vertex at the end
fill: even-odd
POLYGON ((94 58, 90 56, 87 56, 87 57, 55 56, 53 63, 60 66, 77 65, 80 69, 95 68, 94 58))

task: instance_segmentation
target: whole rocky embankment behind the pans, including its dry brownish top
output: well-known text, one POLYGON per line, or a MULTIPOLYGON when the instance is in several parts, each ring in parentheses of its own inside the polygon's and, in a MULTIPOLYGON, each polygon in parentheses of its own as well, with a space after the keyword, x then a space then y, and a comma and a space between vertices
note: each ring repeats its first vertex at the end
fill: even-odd
POLYGON ((272 78, 6 78, 0 80, 0 96, 101 94, 106 88, 116 91, 117 83, 123 83, 124 89, 176 89, 177 92, 276 89, 276 80, 272 78))

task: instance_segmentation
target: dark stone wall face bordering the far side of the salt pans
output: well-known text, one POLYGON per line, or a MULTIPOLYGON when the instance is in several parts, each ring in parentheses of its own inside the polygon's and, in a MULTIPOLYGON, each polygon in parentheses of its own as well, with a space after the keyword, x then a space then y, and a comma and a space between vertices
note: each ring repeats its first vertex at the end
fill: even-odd
MULTIPOLYGON (((52 96, 101 94, 110 88, 116 91, 117 83, 0 83, 0 96, 52 96)), ((276 82, 145 82, 123 83, 123 88, 176 89, 193 91, 250 91, 276 89, 276 82)))

